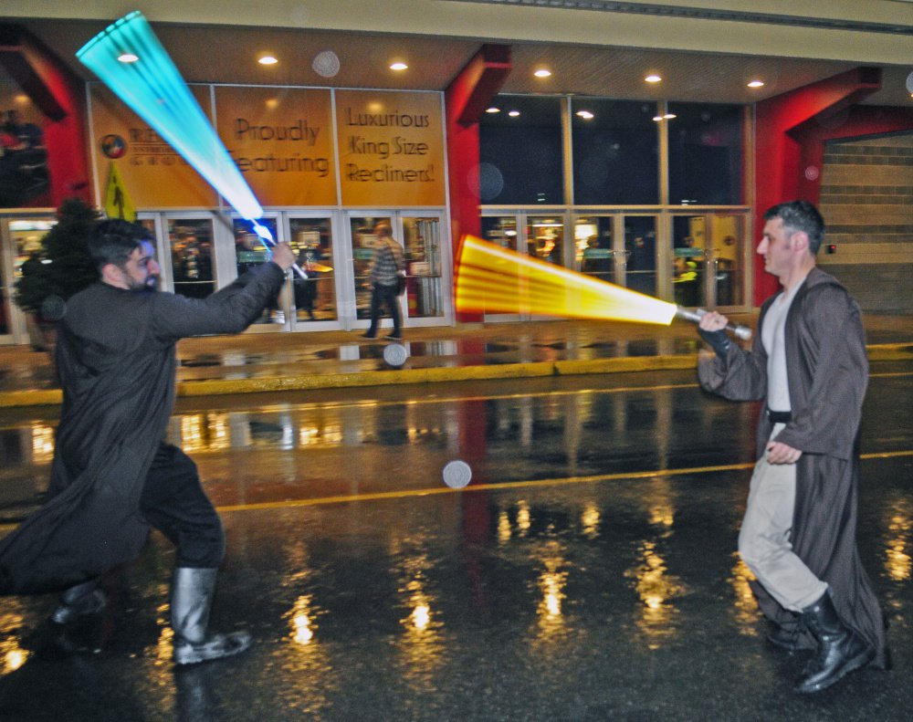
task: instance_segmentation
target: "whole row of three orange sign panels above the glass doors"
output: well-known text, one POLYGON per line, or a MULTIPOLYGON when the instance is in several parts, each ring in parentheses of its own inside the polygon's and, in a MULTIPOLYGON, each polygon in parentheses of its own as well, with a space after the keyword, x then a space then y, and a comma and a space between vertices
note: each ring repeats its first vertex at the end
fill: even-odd
MULTIPOLYGON (((191 86, 211 117, 210 89, 191 86)), ((216 86, 214 95, 215 130, 261 205, 446 204, 440 93, 336 91, 335 147, 330 89, 216 86)), ((215 190, 109 89, 93 84, 91 100, 95 167, 101 174, 117 161, 135 208, 218 205, 215 190)))

